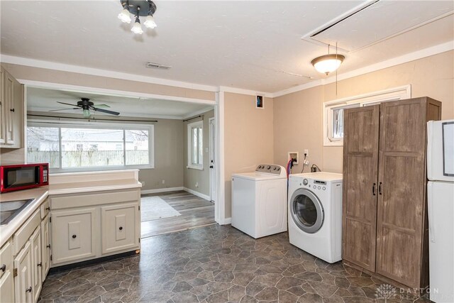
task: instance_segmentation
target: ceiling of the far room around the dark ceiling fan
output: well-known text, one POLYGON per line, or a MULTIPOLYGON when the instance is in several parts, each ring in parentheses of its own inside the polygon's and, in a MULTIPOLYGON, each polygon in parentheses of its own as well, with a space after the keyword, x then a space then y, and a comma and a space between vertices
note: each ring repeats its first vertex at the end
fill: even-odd
MULTIPOLYGON (((77 101, 82 97, 89 98, 90 101, 94 103, 94 106, 96 106, 96 104, 107 104, 110 108, 105 109, 118 111, 121 113, 120 116, 186 119, 189 116, 201 114, 202 112, 213 109, 213 106, 207 106, 206 104, 194 104, 183 101, 139 99, 28 87, 27 111, 48 112, 53 109, 67 109, 65 111, 54 111, 52 113, 80 114, 82 116, 82 110, 72 110, 71 106, 57 103, 57 101, 60 101, 69 104, 77 104, 77 101)), ((109 114, 103 114, 101 112, 96 112, 96 115, 110 116, 109 114)))

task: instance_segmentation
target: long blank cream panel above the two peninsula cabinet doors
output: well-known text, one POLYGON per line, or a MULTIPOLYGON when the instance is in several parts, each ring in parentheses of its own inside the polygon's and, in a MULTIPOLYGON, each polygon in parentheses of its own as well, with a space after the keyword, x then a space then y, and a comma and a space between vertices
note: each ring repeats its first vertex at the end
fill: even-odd
POLYGON ((55 209, 138 201, 140 201, 139 189, 104 192, 101 194, 71 194, 61 197, 50 197, 52 211, 55 209))

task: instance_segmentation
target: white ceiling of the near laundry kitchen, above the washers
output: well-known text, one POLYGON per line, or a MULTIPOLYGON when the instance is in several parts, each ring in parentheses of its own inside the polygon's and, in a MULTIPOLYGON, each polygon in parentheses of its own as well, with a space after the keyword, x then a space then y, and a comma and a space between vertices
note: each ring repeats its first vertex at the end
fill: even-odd
MULTIPOLYGON (((121 10, 118 0, 2 0, 1 53, 197 84, 277 92, 312 81, 309 77, 325 77, 310 62, 326 53, 326 46, 301 38, 364 3, 156 0, 157 28, 135 36, 131 25, 116 17, 121 10), (145 68, 146 62, 171 65, 172 69, 150 70, 145 68)), ((367 44, 385 39, 350 53, 341 52, 346 59, 339 72, 454 39, 454 18, 449 14, 454 1, 384 3, 373 4, 323 36, 323 42, 345 41, 349 44, 345 47, 352 48, 363 46, 361 40, 365 38, 367 44), (421 12, 425 14, 419 16, 421 12), (437 16, 445 17, 435 20, 437 16), (409 28, 413 29, 406 31, 409 28), (389 38, 399 32, 402 34, 389 38)))

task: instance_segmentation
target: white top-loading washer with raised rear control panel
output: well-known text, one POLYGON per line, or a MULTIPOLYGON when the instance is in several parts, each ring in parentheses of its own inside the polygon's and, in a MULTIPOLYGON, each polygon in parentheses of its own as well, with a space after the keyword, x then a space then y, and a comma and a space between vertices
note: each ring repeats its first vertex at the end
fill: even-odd
POLYGON ((261 164, 232 175, 232 226, 253 238, 287 231, 287 172, 261 164))

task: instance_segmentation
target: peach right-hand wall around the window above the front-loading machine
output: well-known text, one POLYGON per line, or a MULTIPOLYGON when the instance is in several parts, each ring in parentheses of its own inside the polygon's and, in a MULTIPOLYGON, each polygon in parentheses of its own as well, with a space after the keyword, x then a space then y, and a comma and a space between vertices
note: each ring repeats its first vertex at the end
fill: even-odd
MULTIPOLYGON (((284 165, 287 151, 309 149, 309 160, 322 170, 342 172, 342 147, 323 147, 323 101, 411 84, 411 97, 428 96, 442 102, 442 119, 454 119, 454 51, 406 62, 275 98, 275 162, 284 165), (291 150, 290 150, 291 149, 291 150)), ((294 172, 300 172, 301 165, 294 172), (299 170, 299 171, 298 171, 299 170)))

